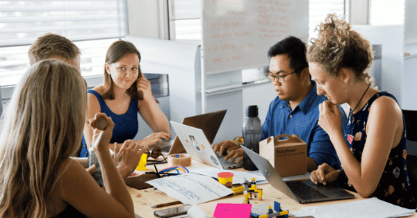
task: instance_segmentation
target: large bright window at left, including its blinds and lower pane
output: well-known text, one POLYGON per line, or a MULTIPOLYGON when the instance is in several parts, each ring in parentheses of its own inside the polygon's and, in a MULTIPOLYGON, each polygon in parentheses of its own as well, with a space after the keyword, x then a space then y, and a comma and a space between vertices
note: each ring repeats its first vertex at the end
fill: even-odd
POLYGON ((0 85, 15 85, 29 67, 30 44, 57 33, 81 49, 81 73, 103 73, 106 50, 127 33, 126 0, 0 1, 0 85))

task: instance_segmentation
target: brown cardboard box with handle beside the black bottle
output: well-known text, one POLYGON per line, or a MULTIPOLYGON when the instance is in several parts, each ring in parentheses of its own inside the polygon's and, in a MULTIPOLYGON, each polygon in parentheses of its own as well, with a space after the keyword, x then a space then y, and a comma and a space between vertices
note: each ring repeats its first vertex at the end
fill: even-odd
POLYGON ((259 142, 259 154, 268 159, 279 176, 307 173, 307 144, 298 135, 277 135, 259 142), (286 137, 288 139, 279 138, 286 137))

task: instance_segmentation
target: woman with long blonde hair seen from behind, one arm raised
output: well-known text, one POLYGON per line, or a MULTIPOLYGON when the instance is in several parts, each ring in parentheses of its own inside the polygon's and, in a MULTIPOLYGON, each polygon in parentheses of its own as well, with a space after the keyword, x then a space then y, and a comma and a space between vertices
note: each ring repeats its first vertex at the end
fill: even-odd
MULTIPOLYGON (((2 117, 0 217, 135 217, 133 201, 108 150, 113 121, 94 129, 92 148, 106 190, 70 156, 81 142, 87 85, 60 60, 24 74, 2 117)), ((145 149, 143 149, 145 150, 145 149)))

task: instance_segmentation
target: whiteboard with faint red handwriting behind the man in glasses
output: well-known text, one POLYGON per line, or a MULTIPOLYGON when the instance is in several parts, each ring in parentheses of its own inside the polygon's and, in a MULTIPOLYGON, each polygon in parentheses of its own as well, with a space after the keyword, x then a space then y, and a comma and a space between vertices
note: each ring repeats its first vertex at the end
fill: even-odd
POLYGON ((205 74, 268 66, 268 49, 288 35, 307 42, 308 0, 202 0, 205 74))

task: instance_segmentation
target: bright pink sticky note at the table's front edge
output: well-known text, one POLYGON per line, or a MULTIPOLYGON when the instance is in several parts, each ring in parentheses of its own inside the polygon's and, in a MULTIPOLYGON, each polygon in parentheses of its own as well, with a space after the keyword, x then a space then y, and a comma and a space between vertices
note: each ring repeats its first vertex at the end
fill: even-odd
POLYGON ((218 203, 215 206, 216 218, 249 218, 252 204, 243 203, 218 203))

